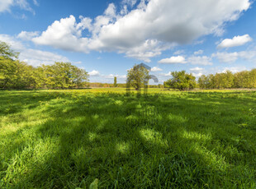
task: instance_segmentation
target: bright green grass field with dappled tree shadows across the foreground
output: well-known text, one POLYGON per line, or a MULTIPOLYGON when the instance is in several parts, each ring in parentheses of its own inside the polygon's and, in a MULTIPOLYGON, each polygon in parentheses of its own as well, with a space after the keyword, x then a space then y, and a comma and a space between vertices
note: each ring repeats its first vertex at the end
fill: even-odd
POLYGON ((0 91, 0 188, 256 188, 256 91, 0 91))

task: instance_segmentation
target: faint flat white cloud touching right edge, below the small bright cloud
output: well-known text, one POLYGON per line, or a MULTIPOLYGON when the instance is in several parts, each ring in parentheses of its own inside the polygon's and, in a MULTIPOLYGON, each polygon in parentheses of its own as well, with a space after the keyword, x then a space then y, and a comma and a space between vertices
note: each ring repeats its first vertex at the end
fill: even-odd
POLYGON ((240 51, 234 53, 218 52, 213 53, 211 56, 217 58, 220 62, 235 62, 239 58, 253 62, 256 60, 256 51, 240 51))

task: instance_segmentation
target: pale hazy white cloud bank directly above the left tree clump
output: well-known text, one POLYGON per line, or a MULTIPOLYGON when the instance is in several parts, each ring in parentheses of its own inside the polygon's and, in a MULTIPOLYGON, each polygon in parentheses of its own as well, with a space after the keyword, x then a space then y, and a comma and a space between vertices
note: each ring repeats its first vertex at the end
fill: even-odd
POLYGON ((34 67, 40 64, 52 64, 54 62, 70 62, 69 58, 59 55, 58 53, 26 48, 21 41, 10 35, 0 35, 0 40, 10 44, 12 49, 20 52, 19 59, 21 61, 27 62, 34 67))

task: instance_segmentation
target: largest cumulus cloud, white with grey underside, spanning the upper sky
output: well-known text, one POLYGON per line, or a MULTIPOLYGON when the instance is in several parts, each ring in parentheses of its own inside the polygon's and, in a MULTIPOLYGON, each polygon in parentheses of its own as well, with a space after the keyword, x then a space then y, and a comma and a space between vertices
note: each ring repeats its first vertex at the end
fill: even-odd
POLYGON ((249 0, 123 2, 126 8, 121 12, 116 12, 111 3, 94 19, 62 18, 32 41, 83 53, 92 50, 125 53, 126 57, 150 62, 150 58, 176 44, 188 44, 203 35, 220 35, 224 24, 237 20, 251 3, 249 0), (128 10, 128 5, 135 4, 128 10))

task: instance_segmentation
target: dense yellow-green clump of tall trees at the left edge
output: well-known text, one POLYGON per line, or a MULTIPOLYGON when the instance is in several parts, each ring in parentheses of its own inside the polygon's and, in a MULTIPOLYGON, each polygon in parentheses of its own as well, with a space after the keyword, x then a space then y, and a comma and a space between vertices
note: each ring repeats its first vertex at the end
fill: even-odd
POLYGON ((32 67, 17 57, 8 44, 0 42, 0 89, 69 89, 88 83, 88 72, 70 62, 32 67))

